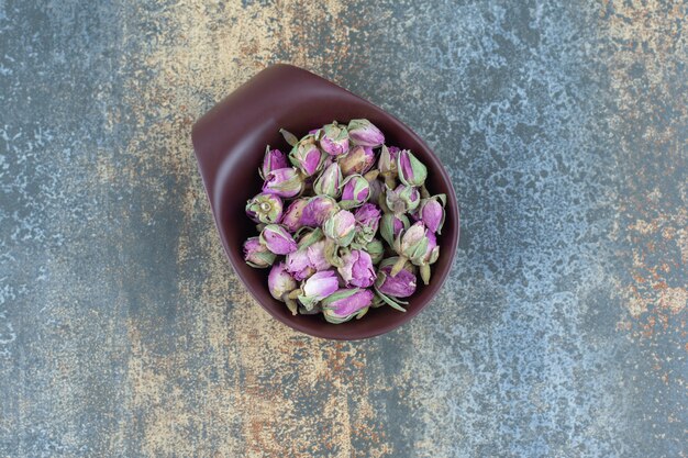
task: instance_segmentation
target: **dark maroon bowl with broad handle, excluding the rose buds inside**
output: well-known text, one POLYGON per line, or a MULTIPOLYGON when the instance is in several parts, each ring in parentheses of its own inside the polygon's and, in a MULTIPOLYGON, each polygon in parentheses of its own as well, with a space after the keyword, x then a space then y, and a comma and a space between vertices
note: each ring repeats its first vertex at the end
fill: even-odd
POLYGON ((253 77, 201 118, 192 131, 199 169, 224 249, 248 291, 274 317, 317 337, 353 340, 391 331, 415 316, 440 291, 458 244, 458 205, 437 157, 409 127, 370 102, 301 68, 275 65, 253 77), (429 286, 409 298, 406 313, 389 306, 371 309, 362 320, 330 324, 321 315, 291 315, 267 289, 269 269, 254 269, 243 259, 244 241, 256 234, 246 217, 246 200, 260 191, 258 167, 265 145, 287 146, 284 127, 297 135, 333 120, 366 118, 384 133, 388 145, 411 149, 426 166, 426 187, 447 197, 446 221, 437 237, 440 259, 429 286))

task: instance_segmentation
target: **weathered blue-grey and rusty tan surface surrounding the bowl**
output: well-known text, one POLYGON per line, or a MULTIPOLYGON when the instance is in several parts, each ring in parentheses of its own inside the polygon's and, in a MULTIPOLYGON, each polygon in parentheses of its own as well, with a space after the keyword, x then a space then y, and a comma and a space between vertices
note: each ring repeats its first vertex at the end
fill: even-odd
POLYGON ((0 455, 685 457, 687 7, 0 0, 0 455), (271 320, 191 124, 267 65, 414 129, 463 217, 386 336, 271 320))

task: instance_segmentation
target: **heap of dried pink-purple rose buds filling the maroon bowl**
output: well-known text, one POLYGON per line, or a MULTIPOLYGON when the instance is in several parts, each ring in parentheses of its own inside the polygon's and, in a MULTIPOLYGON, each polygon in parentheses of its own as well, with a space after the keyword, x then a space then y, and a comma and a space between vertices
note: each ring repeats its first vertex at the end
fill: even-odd
POLYGON ((246 204, 260 233, 244 243, 246 262, 270 268, 270 294, 295 315, 343 323, 371 306, 404 312, 440 256, 446 202, 425 189, 425 166, 367 120, 301 139, 280 132, 291 150, 265 152, 263 192, 246 204))

